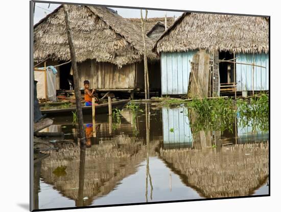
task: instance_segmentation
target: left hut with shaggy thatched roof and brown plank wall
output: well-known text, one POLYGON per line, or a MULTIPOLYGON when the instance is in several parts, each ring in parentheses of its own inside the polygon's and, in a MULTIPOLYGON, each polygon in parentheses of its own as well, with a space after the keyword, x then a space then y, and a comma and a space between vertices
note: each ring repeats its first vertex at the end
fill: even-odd
MULTIPOLYGON (((99 90, 142 89, 144 49, 140 30, 106 7, 69 5, 68 10, 79 62, 79 87, 87 79, 90 87, 99 90)), ((153 45, 148 37, 146 42, 153 45)), ((34 26, 34 61, 46 58, 50 65, 71 59, 62 6, 34 26)), ((157 59, 155 53, 148 51, 150 62, 157 59)), ((63 78, 59 87, 65 89, 67 83, 62 81, 66 81, 71 64, 59 69, 63 78)))

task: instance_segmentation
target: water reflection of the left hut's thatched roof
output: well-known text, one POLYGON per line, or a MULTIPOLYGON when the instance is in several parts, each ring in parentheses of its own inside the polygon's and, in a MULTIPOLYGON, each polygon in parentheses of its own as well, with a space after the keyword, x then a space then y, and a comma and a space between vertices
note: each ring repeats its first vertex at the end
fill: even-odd
MULTIPOLYGON (((110 143, 86 149, 84 194, 86 205, 98 196, 106 195, 124 177, 135 173, 137 164, 144 160, 146 147, 143 141, 120 136, 110 143)), ((73 147, 50 152, 42 161, 41 177, 53 184, 63 196, 78 200, 80 148, 73 147), (66 166, 65 176, 56 176, 53 171, 66 166)), ((82 198, 83 198, 82 197, 82 198)), ((81 197, 80 197, 81 198, 81 197)))

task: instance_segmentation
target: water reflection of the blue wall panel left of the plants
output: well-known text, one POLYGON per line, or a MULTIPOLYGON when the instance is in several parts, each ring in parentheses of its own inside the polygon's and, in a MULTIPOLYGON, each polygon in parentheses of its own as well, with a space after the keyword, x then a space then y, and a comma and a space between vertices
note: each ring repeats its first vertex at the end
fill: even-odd
POLYGON ((162 108, 163 144, 166 145, 192 145, 192 133, 189 118, 184 107, 162 108), (171 129, 173 129, 171 132, 171 129))

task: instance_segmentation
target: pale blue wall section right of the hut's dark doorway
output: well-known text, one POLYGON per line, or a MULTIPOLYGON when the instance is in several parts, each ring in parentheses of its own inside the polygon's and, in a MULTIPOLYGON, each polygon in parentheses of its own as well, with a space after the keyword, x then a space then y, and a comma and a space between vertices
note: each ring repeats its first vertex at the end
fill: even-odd
MULTIPOLYGON (((269 89, 269 58, 268 54, 237 54, 236 62, 240 63, 254 63, 255 65, 265 66, 254 67, 254 90, 268 90, 269 89)), ((252 66, 236 64, 236 82, 237 90, 252 90, 252 66)))

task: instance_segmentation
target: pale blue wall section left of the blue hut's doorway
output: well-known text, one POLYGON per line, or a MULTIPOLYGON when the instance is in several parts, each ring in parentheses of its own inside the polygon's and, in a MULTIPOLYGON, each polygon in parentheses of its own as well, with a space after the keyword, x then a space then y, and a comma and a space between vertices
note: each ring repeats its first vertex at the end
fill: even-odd
POLYGON ((196 52, 161 53, 162 95, 188 93, 190 61, 196 52))

